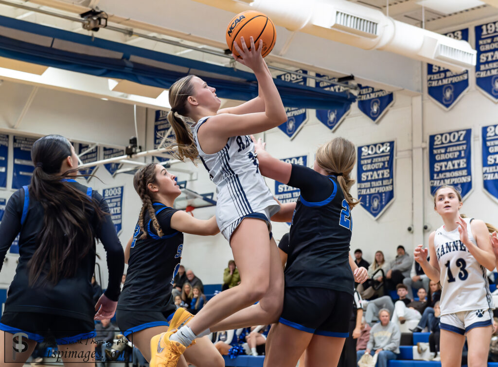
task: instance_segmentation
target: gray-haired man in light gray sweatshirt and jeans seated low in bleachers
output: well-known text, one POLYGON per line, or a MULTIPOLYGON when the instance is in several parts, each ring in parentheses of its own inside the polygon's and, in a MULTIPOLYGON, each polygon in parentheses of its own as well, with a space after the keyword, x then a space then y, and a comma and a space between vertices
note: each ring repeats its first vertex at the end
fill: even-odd
POLYGON ((370 340, 367 349, 357 352, 357 363, 364 354, 378 354, 376 367, 387 367, 387 361, 395 360, 399 354, 401 333, 399 327, 390 321, 389 310, 382 308, 378 312, 379 323, 370 330, 370 340))

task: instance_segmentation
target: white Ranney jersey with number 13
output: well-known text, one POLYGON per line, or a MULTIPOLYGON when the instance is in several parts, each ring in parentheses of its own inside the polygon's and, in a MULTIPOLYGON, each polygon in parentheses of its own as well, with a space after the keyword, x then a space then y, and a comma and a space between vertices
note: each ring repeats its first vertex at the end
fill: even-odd
MULTIPOLYGON (((467 223, 469 240, 476 244, 472 234, 471 218, 467 223)), ((441 315, 460 311, 493 308, 486 268, 481 266, 460 241, 458 227, 447 232, 444 226, 436 230, 434 236, 439 269, 441 270, 441 315)))

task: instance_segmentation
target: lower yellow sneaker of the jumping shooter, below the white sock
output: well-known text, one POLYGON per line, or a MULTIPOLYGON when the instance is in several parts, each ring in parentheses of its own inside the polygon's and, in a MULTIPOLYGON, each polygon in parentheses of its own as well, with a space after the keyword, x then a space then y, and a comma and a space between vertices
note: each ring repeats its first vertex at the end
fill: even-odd
POLYGON ((155 335, 150 339, 150 367, 176 367, 185 346, 179 342, 169 340, 176 330, 155 335))

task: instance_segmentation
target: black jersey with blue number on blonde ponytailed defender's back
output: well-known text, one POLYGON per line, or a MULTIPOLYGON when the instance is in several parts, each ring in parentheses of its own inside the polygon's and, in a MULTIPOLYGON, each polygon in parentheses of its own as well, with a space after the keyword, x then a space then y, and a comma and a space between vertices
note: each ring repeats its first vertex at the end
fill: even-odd
POLYGON ((353 294, 349 265, 352 218, 335 176, 292 165, 288 183, 301 190, 289 232, 285 287, 320 287, 353 294))

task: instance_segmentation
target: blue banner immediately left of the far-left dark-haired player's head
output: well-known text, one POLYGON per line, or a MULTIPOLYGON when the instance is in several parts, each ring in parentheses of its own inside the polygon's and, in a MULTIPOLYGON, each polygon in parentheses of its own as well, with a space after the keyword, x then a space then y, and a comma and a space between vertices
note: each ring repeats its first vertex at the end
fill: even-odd
POLYGON ((33 138, 15 136, 13 142, 14 165, 12 170, 12 188, 21 188, 31 183, 33 162, 31 161, 31 146, 36 141, 33 138))

